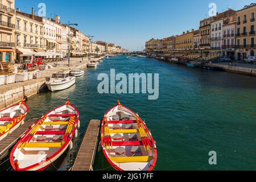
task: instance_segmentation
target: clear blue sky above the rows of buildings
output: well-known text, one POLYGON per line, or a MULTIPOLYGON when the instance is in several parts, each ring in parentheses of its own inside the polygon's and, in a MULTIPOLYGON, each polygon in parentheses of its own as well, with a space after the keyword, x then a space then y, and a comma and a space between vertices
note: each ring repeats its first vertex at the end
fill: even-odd
POLYGON ((46 18, 60 16, 63 23, 78 23, 84 34, 131 51, 140 51, 148 39, 165 38, 199 28, 209 17, 209 3, 217 11, 240 10, 253 0, 15 0, 15 7, 31 13, 46 4, 46 18))

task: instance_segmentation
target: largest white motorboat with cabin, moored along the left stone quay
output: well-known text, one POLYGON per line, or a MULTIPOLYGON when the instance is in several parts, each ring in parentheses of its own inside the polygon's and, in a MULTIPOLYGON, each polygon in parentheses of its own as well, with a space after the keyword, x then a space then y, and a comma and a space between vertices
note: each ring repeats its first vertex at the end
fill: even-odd
POLYGON ((48 89, 51 92, 64 90, 76 83, 75 76, 69 76, 69 72, 55 72, 50 80, 46 82, 48 89))

